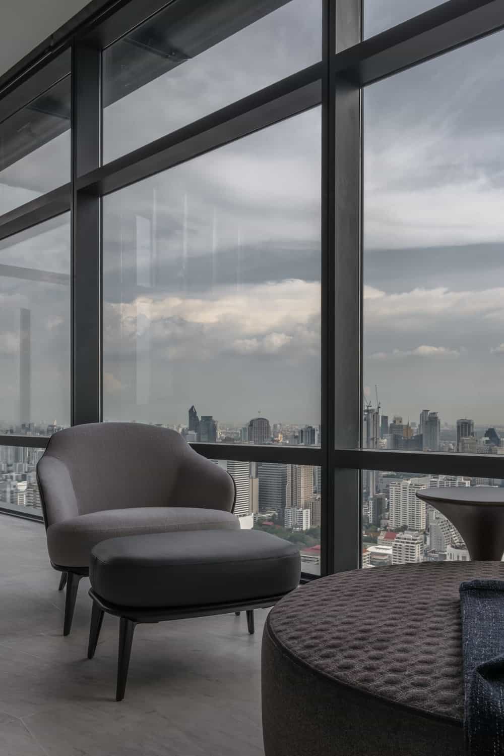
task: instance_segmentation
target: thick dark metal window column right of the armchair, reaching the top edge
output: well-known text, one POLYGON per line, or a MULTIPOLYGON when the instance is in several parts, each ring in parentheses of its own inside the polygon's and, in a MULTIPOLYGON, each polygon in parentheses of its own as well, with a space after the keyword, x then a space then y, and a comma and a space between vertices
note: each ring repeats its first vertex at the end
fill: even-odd
POLYGON ((325 0, 323 20, 322 569, 330 574, 361 563, 360 472, 334 469, 334 450, 357 448, 361 426, 361 92, 337 76, 335 61, 360 41, 360 0, 325 0))

